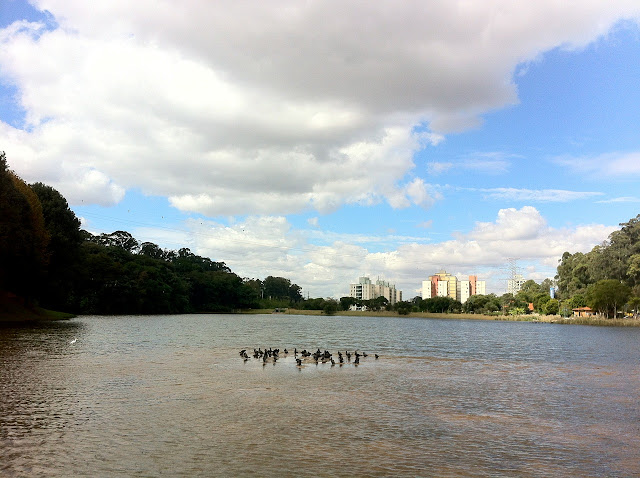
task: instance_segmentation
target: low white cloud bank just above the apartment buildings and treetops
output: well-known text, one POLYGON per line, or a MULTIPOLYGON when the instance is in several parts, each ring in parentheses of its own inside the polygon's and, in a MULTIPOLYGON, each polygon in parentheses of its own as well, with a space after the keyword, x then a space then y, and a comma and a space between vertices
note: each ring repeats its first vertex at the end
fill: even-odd
POLYGON ((478 274, 489 281, 488 292, 504 293, 509 257, 528 264, 530 278, 553 277, 565 251, 588 252, 619 228, 599 224, 552 228, 531 206, 502 209, 495 221, 478 222, 472 230, 439 243, 424 237, 295 229, 282 216, 250 216, 231 225, 192 220, 184 227, 182 237, 176 237, 175 230, 154 233, 145 228, 132 233, 162 247, 167 247, 164 240, 170 241, 169 247, 182 241, 243 277, 290 278, 313 297, 348 295, 351 282, 370 275, 395 283, 405 298, 416 295, 422 280, 441 268, 461 277, 478 274))

